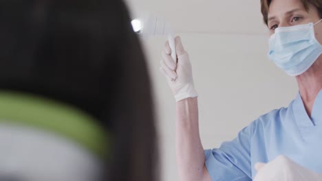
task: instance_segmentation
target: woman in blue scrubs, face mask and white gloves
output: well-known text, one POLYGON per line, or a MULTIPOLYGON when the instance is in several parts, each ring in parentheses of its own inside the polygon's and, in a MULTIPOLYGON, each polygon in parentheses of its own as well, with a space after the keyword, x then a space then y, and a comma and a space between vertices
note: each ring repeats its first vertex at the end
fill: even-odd
POLYGON ((164 46, 160 71, 176 100, 181 180, 322 180, 322 1, 261 0, 261 12, 270 30, 268 58, 295 77, 299 93, 288 108, 264 114, 217 149, 204 150, 200 141, 197 91, 180 37, 176 64, 164 46))

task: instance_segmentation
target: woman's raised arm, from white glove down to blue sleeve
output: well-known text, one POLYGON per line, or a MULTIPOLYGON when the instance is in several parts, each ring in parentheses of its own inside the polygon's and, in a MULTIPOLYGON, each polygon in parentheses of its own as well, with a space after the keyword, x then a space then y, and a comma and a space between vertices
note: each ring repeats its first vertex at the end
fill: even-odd
POLYGON ((169 43, 166 43, 162 51, 160 71, 167 77, 177 101, 176 154, 180 180, 211 180, 204 165, 204 149, 199 134, 197 92, 193 84, 191 63, 180 37, 175 38, 175 47, 178 62, 172 60, 169 43))

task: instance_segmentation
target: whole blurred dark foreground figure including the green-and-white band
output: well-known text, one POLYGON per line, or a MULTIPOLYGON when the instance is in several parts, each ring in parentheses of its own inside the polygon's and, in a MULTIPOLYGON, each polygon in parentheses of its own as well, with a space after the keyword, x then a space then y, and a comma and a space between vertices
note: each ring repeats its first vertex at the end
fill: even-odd
POLYGON ((0 180, 155 180, 147 66, 122 1, 0 1, 0 180))

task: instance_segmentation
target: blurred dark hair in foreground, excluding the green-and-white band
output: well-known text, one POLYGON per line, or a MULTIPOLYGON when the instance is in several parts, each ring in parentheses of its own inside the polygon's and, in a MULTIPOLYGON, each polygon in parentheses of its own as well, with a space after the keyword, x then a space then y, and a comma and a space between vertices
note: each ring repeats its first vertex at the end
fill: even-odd
POLYGON ((0 89, 72 104, 112 135, 107 180, 155 180, 151 83, 120 0, 1 0, 0 89))

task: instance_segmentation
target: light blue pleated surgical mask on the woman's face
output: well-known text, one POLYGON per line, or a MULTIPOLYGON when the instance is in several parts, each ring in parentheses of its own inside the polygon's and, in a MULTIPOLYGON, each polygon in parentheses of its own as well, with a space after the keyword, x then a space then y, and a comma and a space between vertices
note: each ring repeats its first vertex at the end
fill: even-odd
POLYGON ((317 23, 275 29, 269 39, 268 58, 288 75, 296 76, 307 71, 322 53, 322 45, 314 36, 317 23))

